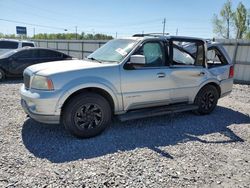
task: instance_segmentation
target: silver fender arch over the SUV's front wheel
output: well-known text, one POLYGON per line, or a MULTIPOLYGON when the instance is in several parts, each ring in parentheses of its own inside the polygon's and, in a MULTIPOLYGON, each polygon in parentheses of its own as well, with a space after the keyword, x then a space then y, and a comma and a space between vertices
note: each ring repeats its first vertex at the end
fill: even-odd
MULTIPOLYGON (((118 81, 119 83, 119 81, 118 81)), ((56 105, 56 113, 60 114, 64 102, 75 92, 85 88, 98 88, 106 91, 114 101, 114 111, 122 110, 122 95, 111 82, 100 77, 78 78, 68 82, 63 88, 64 91, 56 105), (84 80, 84 81, 83 81, 84 80), (94 82, 93 82, 94 81, 94 82)), ((119 88, 119 87, 118 87, 119 88)))

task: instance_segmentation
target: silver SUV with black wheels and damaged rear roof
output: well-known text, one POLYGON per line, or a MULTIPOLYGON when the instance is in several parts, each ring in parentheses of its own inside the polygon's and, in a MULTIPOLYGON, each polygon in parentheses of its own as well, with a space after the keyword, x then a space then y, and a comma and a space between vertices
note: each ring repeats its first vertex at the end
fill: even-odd
POLYGON ((62 122, 86 138, 100 134, 112 116, 125 121, 187 110, 209 114, 231 92, 233 74, 219 43, 134 35, 106 43, 85 60, 28 67, 21 104, 32 119, 62 122))

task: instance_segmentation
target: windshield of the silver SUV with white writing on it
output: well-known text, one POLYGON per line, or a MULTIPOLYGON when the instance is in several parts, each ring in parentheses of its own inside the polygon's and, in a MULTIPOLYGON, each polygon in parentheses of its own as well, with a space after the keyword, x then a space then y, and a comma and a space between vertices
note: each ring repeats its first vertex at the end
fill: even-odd
POLYGON ((132 39, 111 40, 87 58, 101 62, 121 62, 136 43, 137 41, 132 39))

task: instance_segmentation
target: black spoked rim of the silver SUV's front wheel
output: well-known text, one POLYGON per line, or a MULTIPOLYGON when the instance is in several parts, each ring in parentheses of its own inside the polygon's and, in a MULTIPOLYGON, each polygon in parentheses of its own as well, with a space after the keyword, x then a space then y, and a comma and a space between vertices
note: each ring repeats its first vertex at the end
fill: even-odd
POLYGON ((74 116, 74 122, 80 129, 93 129, 101 125, 103 112, 97 104, 84 104, 74 116))

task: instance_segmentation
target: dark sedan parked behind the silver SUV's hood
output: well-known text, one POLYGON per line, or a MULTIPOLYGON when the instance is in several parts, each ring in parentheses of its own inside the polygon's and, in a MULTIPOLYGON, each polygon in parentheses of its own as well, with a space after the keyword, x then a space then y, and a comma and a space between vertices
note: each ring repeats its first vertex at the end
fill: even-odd
POLYGON ((47 48, 21 48, 0 56, 0 81, 6 77, 21 77, 26 67, 48 61, 69 60, 71 56, 47 48))

